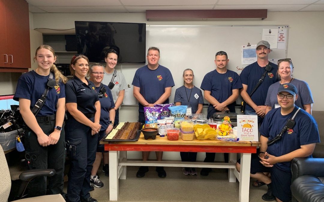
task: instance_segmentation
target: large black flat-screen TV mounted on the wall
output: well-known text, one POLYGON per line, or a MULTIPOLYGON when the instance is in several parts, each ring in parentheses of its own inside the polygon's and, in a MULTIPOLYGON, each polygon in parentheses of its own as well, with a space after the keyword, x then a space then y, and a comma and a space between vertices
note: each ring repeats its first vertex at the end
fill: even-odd
POLYGON ((90 62, 105 62, 107 50, 118 47, 118 62, 145 63, 145 23, 75 21, 75 34, 78 54, 90 62))

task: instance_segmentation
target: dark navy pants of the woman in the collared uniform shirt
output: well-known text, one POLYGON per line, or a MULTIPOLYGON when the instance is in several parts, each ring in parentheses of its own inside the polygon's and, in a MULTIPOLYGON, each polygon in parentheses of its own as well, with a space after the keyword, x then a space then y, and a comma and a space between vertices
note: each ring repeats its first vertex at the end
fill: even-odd
MULTIPOLYGON (((90 120, 93 122, 94 117, 90 120)), ((91 128, 73 117, 66 121, 65 133, 70 157, 67 197, 68 201, 78 202, 80 197, 82 199, 90 197, 90 175, 92 164, 96 159, 98 134, 91 135, 91 128)))

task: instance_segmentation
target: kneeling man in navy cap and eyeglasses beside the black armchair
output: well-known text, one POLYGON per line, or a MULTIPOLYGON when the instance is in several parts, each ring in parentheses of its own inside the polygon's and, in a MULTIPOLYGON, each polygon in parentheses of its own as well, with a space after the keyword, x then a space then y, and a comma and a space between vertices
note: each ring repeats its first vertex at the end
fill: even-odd
POLYGON ((251 157, 251 177, 267 184, 268 192, 262 196, 263 200, 290 201, 291 160, 312 157, 320 140, 315 119, 295 105, 298 95, 293 84, 280 85, 277 99, 280 107, 269 111, 260 127, 259 162, 251 157), (294 115, 295 123, 287 124, 294 115), (290 126, 283 130, 286 124, 290 126), (271 177, 264 175, 265 172, 270 172, 271 177))

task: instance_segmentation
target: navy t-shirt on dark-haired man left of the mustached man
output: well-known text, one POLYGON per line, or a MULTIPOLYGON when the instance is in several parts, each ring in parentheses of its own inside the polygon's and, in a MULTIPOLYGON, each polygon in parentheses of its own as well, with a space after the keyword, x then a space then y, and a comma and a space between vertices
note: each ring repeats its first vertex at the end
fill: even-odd
MULTIPOLYGON (((227 69, 226 73, 220 74, 215 69, 205 75, 200 88, 210 91, 210 95, 222 103, 233 94, 232 90, 242 88, 242 83, 236 72, 227 69)), ((230 105, 235 105, 235 103, 234 101, 230 105)), ((209 106, 212 105, 209 104, 209 106)))

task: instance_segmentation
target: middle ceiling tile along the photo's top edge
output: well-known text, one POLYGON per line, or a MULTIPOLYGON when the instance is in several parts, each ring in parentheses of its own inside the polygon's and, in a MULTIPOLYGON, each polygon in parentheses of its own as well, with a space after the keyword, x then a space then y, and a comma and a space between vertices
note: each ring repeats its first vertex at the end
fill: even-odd
POLYGON ((147 1, 147 0, 121 0, 126 6, 161 6, 161 5, 215 5, 217 0, 163 0, 163 1, 147 1))

